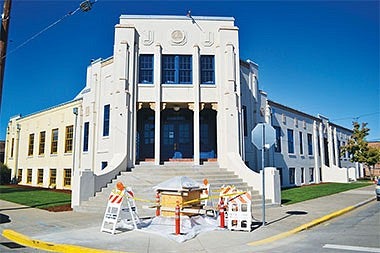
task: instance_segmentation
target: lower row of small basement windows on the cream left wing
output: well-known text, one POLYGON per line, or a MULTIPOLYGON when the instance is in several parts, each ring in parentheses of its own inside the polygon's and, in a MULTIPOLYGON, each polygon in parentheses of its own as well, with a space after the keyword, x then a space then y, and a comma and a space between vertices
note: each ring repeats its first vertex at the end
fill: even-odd
MULTIPOLYGON (((63 169, 63 186, 71 186, 71 169, 63 169)), ((17 180, 22 182, 23 169, 18 169, 17 180)), ((33 169, 26 169, 26 183, 32 184, 33 169)), ((57 169, 49 170, 49 185, 53 186, 57 184, 57 169)), ((37 184, 42 185, 44 183, 44 169, 37 169, 37 184)))

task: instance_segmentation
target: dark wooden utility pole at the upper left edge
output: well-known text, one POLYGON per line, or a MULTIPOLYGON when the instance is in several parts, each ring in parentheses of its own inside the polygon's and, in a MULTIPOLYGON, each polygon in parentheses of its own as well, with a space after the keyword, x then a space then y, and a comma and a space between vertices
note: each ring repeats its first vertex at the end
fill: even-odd
POLYGON ((0 111, 3 97, 3 81, 5 59, 7 54, 8 27, 11 14, 12 0, 4 0, 3 15, 1 16, 1 34, 0 34, 0 111))

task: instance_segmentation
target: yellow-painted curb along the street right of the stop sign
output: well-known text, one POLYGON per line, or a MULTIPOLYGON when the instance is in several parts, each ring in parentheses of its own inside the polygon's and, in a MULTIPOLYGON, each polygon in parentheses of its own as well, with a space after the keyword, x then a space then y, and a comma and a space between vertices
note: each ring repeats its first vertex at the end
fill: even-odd
POLYGON ((277 240, 280 240, 282 238, 285 238, 285 237, 288 237, 292 234, 295 234, 295 233, 298 233, 298 232, 301 232, 303 230, 306 230, 306 229, 309 229, 309 228, 312 228, 322 222, 325 222, 325 221, 328 221, 328 220, 331 220, 332 218, 335 218, 339 215, 342 215, 344 213, 347 213, 351 210, 355 209, 355 206, 349 206, 349 207, 346 207, 344 209, 341 209, 339 211, 336 211, 336 212, 333 212, 333 213, 330 213, 328 215, 325 215, 321 218, 318 218, 318 219, 315 219, 311 222, 308 222, 306 224, 303 224, 299 227, 296 227, 292 230, 289 230, 287 232, 284 232, 284 233, 281 233, 281 234, 278 234, 278 235, 275 235, 275 236, 271 236, 271 237, 268 237, 266 239, 263 239, 263 240, 259 240, 259 241, 254 241, 254 242, 250 242, 250 243, 247 243, 247 245, 249 246, 258 246, 258 245, 262 245, 262 244, 266 244, 266 243, 270 243, 270 242, 274 242, 274 241, 277 241, 277 240))

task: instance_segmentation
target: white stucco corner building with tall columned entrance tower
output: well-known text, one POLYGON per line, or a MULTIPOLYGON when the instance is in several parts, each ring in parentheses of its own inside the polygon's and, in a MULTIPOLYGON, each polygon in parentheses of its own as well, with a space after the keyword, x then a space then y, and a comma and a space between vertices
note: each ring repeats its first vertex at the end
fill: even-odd
POLYGON ((339 145, 350 130, 268 100, 258 87, 258 65, 239 58, 238 32, 230 17, 122 15, 113 56, 88 66, 86 85, 73 101, 10 120, 6 161, 12 175, 30 168, 37 181, 21 183, 41 185, 38 173, 43 173, 41 186, 47 187, 50 174, 40 168, 71 169, 73 206, 141 161, 201 167, 213 160, 260 189, 260 151, 251 143, 251 130, 267 122, 280 129, 276 147, 266 151, 273 203, 280 201, 280 175, 282 186, 348 182, 348 169, 341 166, 352 164, 343 164, 347 159, 339 156, 339 145), (43 120, 51 113, 59 126, 43 120), (67 126, 73 129, 73 150, 59 153, 59 164, 52 165, 51 155, 40 160, 37 153, 25 155, 26 144, 41 146, 39 137, 30 140, 41 129, 59 128, 64 150, 67 126), (33 159, 41 163, 27 163, 33 159))

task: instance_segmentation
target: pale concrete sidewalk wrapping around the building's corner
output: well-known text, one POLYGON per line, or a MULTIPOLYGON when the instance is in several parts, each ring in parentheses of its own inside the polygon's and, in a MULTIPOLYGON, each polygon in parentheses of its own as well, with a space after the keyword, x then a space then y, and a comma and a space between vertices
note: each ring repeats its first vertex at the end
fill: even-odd
MULTIPOLYGON (((304 224, 313 225, 315 222, 324 222, 331 218, 327 216, 331 213, 341 215, 358 205, 374 200, 374 189, 375 186, 370 185, 290 206, 269 207, 266 209, 267 225, 265 227, 257 227, 250 233, 216 230, 201 233, 184 243, 177 243, 160 235, 138 230, 118 232, 115 235, 100 232, 102 211, 99 214, 53 213, 1 200, 0 232, 3 234, 5 229, 11 229, 31 239, 52 244, 78 245, 102 251, 253 252, 255 245, 269 243, 282 237, 276 237, 278 235, 291 235, 302 230, 300 226, 304 224), (319 218, 321 219, 317 220, 319 218)), ((257 220, 261 220, 261 215, 261 208, 253 210, 253 216, 257 220)), ((4 241, 8 240, 2 237, 1 242, 4 241)))

